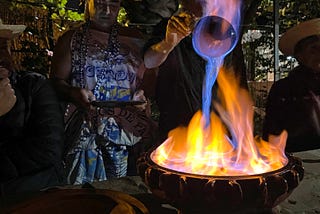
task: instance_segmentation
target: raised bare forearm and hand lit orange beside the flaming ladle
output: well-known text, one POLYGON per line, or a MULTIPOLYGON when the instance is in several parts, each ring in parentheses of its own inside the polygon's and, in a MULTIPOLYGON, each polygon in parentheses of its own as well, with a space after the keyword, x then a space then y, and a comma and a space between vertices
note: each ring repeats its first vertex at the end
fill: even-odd
POLYGON ((144 54, 146 68, 155 68, 161 65, 169 53, 179 42, 190 35, 194 27, 195 18, 187 13, 172 16, 166 27, 165 38, 157 44, 152 45, 144 54))

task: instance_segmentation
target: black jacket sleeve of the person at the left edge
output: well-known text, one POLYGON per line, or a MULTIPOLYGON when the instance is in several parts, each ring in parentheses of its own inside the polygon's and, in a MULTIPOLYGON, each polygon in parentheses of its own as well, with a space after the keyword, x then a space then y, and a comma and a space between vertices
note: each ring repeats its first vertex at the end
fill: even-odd
POLYGON ((23 138, 7 150, 20 174, 59 165, 63 149, 63 113, 50 82, 41 75, 28 74, 18 88, 25 99, 23 138))

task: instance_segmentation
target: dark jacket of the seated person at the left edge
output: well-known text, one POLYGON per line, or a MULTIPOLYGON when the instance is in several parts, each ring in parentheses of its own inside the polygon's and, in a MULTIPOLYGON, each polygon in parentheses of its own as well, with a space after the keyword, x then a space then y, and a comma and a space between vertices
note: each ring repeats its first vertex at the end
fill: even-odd
POLYGON ((56 94, 40 74, 11 82, 17 102, 0 117, 0 195, 59 185, 64 125, 56 94))

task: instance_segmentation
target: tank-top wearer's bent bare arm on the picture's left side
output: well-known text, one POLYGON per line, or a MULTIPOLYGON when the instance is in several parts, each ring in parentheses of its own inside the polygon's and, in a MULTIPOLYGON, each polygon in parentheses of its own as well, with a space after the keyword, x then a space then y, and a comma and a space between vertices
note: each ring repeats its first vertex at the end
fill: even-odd
POLYGON ((88 108, 94 95, 90 90, 70 85, 72 70, 71 39, 74 31, 65 33, 55 46, 50 79, 60 98, 77 106, 88 108))

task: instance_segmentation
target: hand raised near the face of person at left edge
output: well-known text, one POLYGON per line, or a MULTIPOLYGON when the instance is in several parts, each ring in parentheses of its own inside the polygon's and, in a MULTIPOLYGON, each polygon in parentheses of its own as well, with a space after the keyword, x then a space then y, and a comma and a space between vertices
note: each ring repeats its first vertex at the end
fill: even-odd
POLYGON ((8 78, 0 80, 0 100, 0 116, 2 116, 12 109, 17 100, 8 78))

